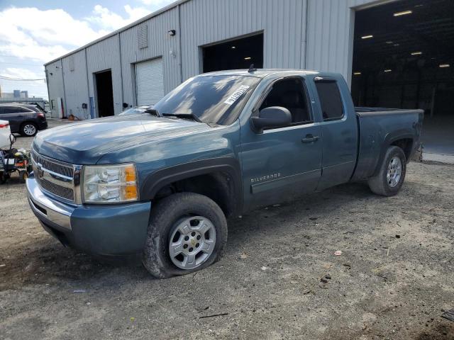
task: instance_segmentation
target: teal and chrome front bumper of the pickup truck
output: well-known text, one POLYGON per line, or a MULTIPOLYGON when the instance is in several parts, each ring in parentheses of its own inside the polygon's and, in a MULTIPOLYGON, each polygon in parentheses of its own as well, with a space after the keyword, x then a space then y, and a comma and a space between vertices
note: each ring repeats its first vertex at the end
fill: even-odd
POLYGON ((116 205, 70 205, 43 192, 27 179, 28 203, 52 236, 90 254, 127 255, 143 250, 150 202, 116 205))

